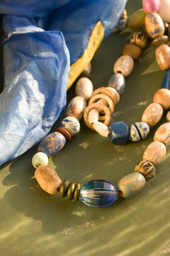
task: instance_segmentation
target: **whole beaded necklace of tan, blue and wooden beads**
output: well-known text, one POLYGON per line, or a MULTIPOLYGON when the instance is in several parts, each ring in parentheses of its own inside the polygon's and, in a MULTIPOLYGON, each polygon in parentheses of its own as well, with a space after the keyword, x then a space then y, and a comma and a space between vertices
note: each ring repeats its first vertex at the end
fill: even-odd
MULTIPOLYGON (((157 47, 157 63, 162 70, 166 70, 162 89, 155 92, 153 103, 142 114, 142 122, 136 122, 130 128, 124 122, 113 122, 109 129, 107 125, 111 120, 111 114, 125 88, 125 77, 131 73, 134 60, 139 58, 142 48, 146 46, 147 36, 141 31, 133 34, 130 43, 123 49, 123 56, 115 62, 114 75, 108 81, 108 87, 101 87, 93 92, 93 85, 89 79, 91 71, 89 64, 77 82, 77 96, 69 102, 67 117, 62 120, 61 127, 48 134, 40 142, 38 153, 33 156, 32 162, 36 168, 35 178, 47 193, 60 192, 62 198, 67 196, 69 200, 73 201, 79 201, 81 198, 81 201, 88 206, 110 206, 118 198, 118 194, 128 198, 138 193, 145 186, 146 181, 154 176, 154 166, 164 159, 166 146, 170 144, 170 111, 166 115, 167 122, 157 129, 154 134, 154 142, 147 146, 142 161, 135 166, 135 172, 121 178, 117 187, 113 186, 111 182, 101 179, 86 182, 82 187, 80 183, 61 181, 55 170, 47 165, 48 157, 60 151, 71 137, 79 134, 79 121, 83 115, 84 122, 89 128, 96 130, 103 137, 109 137, 113 144, 123 145, 128 143, 128 140, 137 142, 145 139, 150 127, 153 127, 162 118, 163 110, 169 109, 170 64, 166 58, 169 46, 164 44, 167 41, 167 36, 164 36, 167 26, 164 26, 162 18, 155 12, 155 10, 158 11, 158 7, 154 4, 157 1, 149 2, 152 2, 150 7, 143 4, 147 13, 147 15, 145 14, 145 28, 147 36, 153 39, 152 44, 157 47), (89 101, 87 107, 86 101, 89 101)), ((126 11, 123 11, 123 16, 117 26, 119 30, 125 28, 126 19, 126 11)), ((127 24, 132 28, 132 18, 129 18, 127 24)))

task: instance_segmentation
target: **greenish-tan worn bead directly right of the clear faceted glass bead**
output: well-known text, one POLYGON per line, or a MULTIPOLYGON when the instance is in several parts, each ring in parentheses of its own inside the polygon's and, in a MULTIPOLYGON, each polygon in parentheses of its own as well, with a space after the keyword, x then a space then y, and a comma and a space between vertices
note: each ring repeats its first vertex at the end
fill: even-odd
POLYGON ((140 192, 145 186, 145 177, 139 172, 128 174, 118 182, 117 189, 120 196, 128 198, 140 192))

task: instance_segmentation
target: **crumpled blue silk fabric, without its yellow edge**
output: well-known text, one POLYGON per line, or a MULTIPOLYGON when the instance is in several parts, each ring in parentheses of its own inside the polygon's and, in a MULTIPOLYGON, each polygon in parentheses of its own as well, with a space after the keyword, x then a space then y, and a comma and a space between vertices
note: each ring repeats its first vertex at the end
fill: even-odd
POLYGON ((50 132, 66 105, 70 65, 83 55, 96 23, 108 36, 124 8, 125 0, 0 0, 0 165, 50 132))

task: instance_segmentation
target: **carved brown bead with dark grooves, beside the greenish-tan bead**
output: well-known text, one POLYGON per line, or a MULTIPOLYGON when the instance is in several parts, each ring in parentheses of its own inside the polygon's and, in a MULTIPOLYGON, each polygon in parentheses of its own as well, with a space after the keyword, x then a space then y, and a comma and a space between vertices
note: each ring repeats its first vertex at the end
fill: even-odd
POLYGON ((140 161, 135 166, 135 171, 140 172, 143 176, 145 176, 146 180, 149 180, 155 175, 155 167, 154 165, 149 161, 140 161))

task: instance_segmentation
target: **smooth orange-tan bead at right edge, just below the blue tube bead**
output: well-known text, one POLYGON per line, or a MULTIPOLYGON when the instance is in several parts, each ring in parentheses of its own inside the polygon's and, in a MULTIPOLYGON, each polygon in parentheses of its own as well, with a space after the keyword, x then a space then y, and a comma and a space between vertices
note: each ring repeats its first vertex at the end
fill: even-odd
POLYGON ((159 103, 164 110, 168 110, 170 107, 170 90, 166 88, 157 90, 154 93, 153 102, 159 103))

